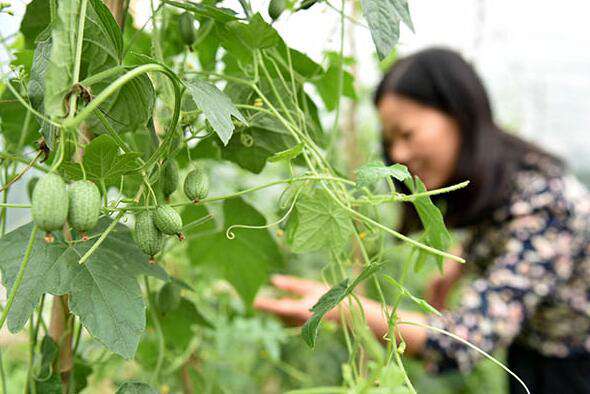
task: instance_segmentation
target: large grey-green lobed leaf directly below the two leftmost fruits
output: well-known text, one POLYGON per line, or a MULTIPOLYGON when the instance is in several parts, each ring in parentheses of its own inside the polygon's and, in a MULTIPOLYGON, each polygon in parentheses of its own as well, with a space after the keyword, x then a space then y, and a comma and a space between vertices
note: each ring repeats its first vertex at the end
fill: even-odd
MULTIPOLYGON (((129 229, 117 224, 84 265, 78 260, 96 242, 110 219, 101 219, 89 235, 91 240, 68 245, 60 234, 48 244, 39 232, 23 282, 8 314, 8 328, 17 332, 33 313, 42 294, 70 294, 70 308, 88 332, 111 351, 125 358, 135 354, 145 329, 145 304, 138 275, 166 280, 165 271, 147 263, 129 229)), ((12 288, 32 223, 0 239, 0 270, 8 291, 12 288)))

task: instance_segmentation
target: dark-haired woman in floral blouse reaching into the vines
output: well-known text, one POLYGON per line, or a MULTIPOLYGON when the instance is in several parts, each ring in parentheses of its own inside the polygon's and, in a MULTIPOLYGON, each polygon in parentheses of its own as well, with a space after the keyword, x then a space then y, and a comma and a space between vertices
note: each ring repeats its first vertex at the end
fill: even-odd
MULTIPOLYGON (((589 393, 588 192, 559 159, 494 123, 475 70, 453 51, 428 49, 396 62, 377 88, 375 105, 389 162, 406 164, 428 189, 471 181, 438 197, 447 225, 467 230, 467 264, 447 262, 430 285, 429 301, 443 307, 465 269, 476 280, 456 310, 442 317, 400 311, 400 319, 445 329, 487 352, 508 347, 509 368, 532 393, 589 393)), ((403 230, 416 224, 408 205, 403 230)), ((256 306, 300 323, 325 291, 289 276, 276 276, 273 284, 299 298, 260 298, 256 306)), ((368 299, 363 306, 371 329, 383 337, 387 322, 380 306, 368 299)), ((398 329, 406 354, 435 369, 466 371, 479 357, 433 331, 398 329)), ((511 379, 510 392, 524 390, 511 379)))

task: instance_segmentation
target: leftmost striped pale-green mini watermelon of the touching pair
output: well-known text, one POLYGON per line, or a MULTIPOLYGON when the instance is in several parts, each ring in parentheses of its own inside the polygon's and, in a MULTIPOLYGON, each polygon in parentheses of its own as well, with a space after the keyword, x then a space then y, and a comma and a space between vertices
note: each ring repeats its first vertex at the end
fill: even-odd
POLYGON ((68 216, 68 192, 59 175, 47 174, 37 182, 31 214, 35 224, 46 231, 45 241, 53 242, 51 231, 62 228, 68 216))

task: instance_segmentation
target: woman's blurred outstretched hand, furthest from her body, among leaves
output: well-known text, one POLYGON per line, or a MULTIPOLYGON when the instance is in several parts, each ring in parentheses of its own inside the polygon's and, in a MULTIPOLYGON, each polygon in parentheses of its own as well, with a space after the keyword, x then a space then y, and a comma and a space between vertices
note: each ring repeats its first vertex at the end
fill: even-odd
MULTIPOLYGON (((270 281, 277 289, 290 292, 296 297, 258 297, 254 301, 254 307, 277 315, 291 325, 305 323, 312 316, 311 307, 329 290, 320 282, 289 275, 273 275, 270 281)), ((326 317, 337 319, 338 310, 334 308, 326 317)))

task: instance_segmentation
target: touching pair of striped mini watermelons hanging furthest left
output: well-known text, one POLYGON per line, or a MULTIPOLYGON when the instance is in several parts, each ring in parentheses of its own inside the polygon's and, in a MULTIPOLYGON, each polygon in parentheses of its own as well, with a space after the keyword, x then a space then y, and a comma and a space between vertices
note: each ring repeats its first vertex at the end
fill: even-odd
POLYGON ((66 220, 82 239, 88 239, 86 233, 98 223, 100 192, 90 181, 75 181, 68 188, 59 175, 50 173, 36 182, 31 194, 33 221, 45 230, 47 242, 53 241, 51 232, 63 228, 66 220))

